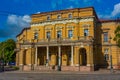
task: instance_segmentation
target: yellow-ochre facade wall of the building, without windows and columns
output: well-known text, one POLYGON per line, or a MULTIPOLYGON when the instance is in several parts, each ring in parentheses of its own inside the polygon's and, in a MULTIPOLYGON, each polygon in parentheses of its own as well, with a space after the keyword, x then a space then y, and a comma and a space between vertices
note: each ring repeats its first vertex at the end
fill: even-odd
MULTIPOLYGON (((108 54, 112 54, 112 62, 113 65, 119 65, 119 48, 116 46, 116 42, 113 40, 114 31, 117 27, 115 21, 110 22, 99 22, 96 13, 93 8, 80 8, 80 9, 70 9, 70 10, 61 10, 61 11, 53 11, 53 12, 45 12, 40 14, 33 14, 31 16, 32 22, 29 29, 24 29, 22 33, 17 36, 17 48, 20 48, 20 52, 16 55, 19 56, 19 60, 16 59, 18 64, 31 65, 35 64, 35 53, 36 47, 38 50, 38 59, 37 64, 43 65, 46 64, 46 45, 36 46, 39 41, 46 42, 47 32, 51 33, 50 41, 57 40, 57 31, 62 31, 62 40, 71 40, 76 41, 78 39, 85 40, 94 40, 93 44, 90 41, 84 43, 84 48, 87 53, 87 65, 110 65, 110 58, 105 61, 104 50, 108 49, 108 54), (72 15, 72 18, 69 18, 69 14, 72 15), (58 15, 61 16, 60 19, 57 19, 58 15), (50 18, 47 20, 47 18, 50 18), (84 29, 88 29, 89 35, 85 38, 84 29), (68 39, 68 30, 73 30, 73 37, 68 39), (34 39, 34 34, 38 33, 38 39, 34 39), (104 42, 103 32, 108 32, 108 36, 112 37, 108 42, 104 42), (110 46, 109 44, 112 44, 110 46), (21 46, 20 46, 21 45, 21 46), (27 49, 26 49, 27 47, 27 49), (24 53, 24 56, 23 56, 24 53), (25 57, 26 55, 26 57, 25 57), (42 57, 41 57, 42 56, 42 57), (42 59, 41 59, 42 58, 42 59), (25 61, 23 61, 25 60, 25 61)), ((68 52, 70 51, 69 46, 62 46, 62 65, 70 65, 71 61, 69 61, 68 52)), ((57 54, 58 54, 58 46, 50 46, 49 50, 51 53, 50 65, 58 64, 57 54)), ((74 65, 78 66, 82 64, 82 56, 79 54, 81 49, 80 45, 74 46, 74 54, 73 54, 73 62, 74 65)), ((17 57, 18 58, 18 57, 17 57)))

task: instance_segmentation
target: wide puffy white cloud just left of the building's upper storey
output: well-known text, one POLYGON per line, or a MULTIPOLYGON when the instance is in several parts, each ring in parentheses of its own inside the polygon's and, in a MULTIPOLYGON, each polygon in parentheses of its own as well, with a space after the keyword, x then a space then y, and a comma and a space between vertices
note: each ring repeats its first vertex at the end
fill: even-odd
POLYGON ((31 18, 29 15, 17 16, 9 15, 7 19, 8 25, 13 25, 16 27, 29 27, 31 18))

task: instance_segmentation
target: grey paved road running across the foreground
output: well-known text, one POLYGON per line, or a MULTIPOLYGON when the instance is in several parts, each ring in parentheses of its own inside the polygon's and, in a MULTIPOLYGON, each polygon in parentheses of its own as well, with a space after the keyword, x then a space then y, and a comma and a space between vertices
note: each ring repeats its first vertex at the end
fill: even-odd
POLYGON ((0 73, 0 80, 120 80, 120 74, 0 73))

